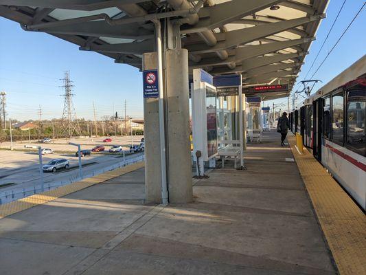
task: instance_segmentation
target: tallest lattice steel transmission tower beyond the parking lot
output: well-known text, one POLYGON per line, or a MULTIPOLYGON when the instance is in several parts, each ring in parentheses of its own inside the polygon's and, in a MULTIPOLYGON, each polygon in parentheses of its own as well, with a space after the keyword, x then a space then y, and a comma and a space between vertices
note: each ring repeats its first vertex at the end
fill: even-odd
POLYGON ((65 88, 65 94, 62 96, 65 97, 64 109, 62 112, 62 132, 61 136, 71 137, 73 133, 77 135, 81 134, 80 125, 76 118, 75 107, 73 107, 72 97, 74 94, 71 93, 71 89, 73 85, 71 84, 69 71, 65 72, 64 85, 61 86, 65 88))

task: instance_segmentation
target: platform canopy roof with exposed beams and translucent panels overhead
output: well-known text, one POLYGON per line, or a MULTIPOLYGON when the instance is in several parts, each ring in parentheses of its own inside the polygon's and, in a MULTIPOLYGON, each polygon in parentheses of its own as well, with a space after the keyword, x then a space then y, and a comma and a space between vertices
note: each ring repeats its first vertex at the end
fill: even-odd
MULTIPOLYGON (((293 87, 329 0, 0 0, 0 16, 141 69, 154 20, 180 25, 190 69, 293 87)), ((266 93, 266 99, 288 92, 266 93)))

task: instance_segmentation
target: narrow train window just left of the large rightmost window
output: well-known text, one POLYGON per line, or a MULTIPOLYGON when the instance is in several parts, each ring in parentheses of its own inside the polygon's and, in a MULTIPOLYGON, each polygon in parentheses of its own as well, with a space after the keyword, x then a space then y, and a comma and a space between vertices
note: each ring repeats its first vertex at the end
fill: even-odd
POLYGON ((343 92, 332 96, 332 141, 343 145, 343 92))

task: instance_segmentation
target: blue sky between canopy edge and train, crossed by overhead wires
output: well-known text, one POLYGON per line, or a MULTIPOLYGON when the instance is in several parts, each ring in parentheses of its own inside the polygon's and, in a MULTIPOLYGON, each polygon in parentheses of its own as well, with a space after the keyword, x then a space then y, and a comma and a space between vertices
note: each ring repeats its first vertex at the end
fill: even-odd
MULTIPOLYGON (((297 85, 295 85, 294 90, 302 90, 303 85, 299 84, 301 80, 304 80, 306 74, 314 61, 314 58, 317 56, 319 50, 321 49, 321 45, 325 40, 330 28, 332 27, 332 23, 334 19, 336 19, 336 14, 338 14, 343 0, 331 0, 328 9, 327 9, 327 17, 321 21, 321 25, 317 32, 317 40, 314 41, 310 47, 310 54, 305 58, 305 64, 301 67, 301 72, 299 73, 299 77, 297 78, 297 85)), ((312 74, 317 70, 317 67, 321 64, 321 61, 328 54, 332 46, 339 39, 347 25, 352 21, 358 10, 362 7, 364 1, 361 0, 347 0, 339 18, 337 19, 332 32, 330 33, 328 40, 325 42, 323 49, 321 50, 317 60, 315 61, 312 69, 307 76, 307 80, 310 79, 312 74)), ((333 52, 328 56, 327 60, 317 74, 314 75, 312 79, 319 79, 323 83, 318 83, 314 86, 312 92, 317 91, 317 89, 321 88, 323 85, 328 83, 332 78, 343 72, 343 70, 350 67, 354 62, 356 62, 359 58, 366 54, 366 36, 365 36, 365 28, 366 28, 366 13, 365 7, 358 14, 356 20, 352 23, 351 27, 347 30, 341 41, 334 48, 333 52)), ((303 102, 304 99, 299 97, 297 99, 297 104, 303 102)), ((265 102, 269 106, 272 106, 272 103, 275 103, 278 106, 278 109, 287 110, 287 98, 272 100, 265 102)))

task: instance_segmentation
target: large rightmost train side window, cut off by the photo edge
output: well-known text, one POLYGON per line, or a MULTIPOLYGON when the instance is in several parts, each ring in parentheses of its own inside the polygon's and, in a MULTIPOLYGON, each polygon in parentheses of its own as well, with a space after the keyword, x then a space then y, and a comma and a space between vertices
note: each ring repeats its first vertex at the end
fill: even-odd
POLYGON ((347 91, 347 144, 366 156, 365 120, 366 87, 358 85, 347 91))

